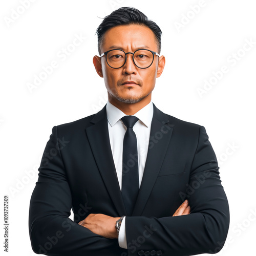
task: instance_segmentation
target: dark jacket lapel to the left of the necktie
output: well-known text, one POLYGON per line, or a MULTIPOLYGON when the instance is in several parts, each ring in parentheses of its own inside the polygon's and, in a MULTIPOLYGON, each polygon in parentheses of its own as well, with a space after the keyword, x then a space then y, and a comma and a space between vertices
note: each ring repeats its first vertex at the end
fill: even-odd
POLYGON ((87 127, 86 133, 96 164, 119 216, 126 215, 111 151, 106 106, 93 117, 91 123, 93 125, 87 127))

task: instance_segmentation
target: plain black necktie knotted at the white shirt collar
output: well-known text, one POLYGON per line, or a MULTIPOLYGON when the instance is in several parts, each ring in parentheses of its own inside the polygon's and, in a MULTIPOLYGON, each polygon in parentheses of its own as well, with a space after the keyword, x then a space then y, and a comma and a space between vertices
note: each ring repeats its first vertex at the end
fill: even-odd
POLYGON ((127 215, 131 216, 139 192, 137 139, 133 131, 139 119, 136 116, 124 116, 121 120, 127 127, 123 138, 122 198, 127 215))

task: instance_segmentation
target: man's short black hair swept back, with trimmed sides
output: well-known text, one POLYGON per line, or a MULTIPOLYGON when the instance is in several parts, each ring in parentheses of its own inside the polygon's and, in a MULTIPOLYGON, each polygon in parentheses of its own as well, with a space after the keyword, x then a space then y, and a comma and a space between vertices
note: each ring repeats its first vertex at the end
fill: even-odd
POLYGON ((98 36, 99 54, 101 54, 100 48, 104 40, 104 35, 107 30, 119 25, 132 25, 132 24, 148 27, 154 32, 157 45, 158 45, 158 53, 160 53, 162 31, 158 27, 158 25, 152 20, 148 19, 144 13, 142 13, 141 11, 133 7, 121 7, 113 11, 110 15, 105 16, 102 23, 97 28, 96 34, 98 36))

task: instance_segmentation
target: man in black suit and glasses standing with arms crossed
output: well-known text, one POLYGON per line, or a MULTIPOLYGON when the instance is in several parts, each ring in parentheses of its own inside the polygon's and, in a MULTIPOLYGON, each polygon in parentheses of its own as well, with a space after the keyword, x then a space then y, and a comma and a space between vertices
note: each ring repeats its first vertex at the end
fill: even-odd
POLYGON ((33 250, 218 252, 229 209, 205 129, 151 101, 165 65, 160 28, 137 9, 120 8, 97 33, 100 56, 93 63, 108 103, 95 115, 53 127, 30 204, 33 250))

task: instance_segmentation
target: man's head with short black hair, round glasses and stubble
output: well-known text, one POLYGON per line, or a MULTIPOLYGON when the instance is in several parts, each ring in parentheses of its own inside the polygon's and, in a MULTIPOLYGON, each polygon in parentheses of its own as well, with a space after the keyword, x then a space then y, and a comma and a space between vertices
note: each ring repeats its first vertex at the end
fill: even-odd
POLYGON ((116 106, 149 103, 156 78, 165 65, 164 56, 159 56, 160 28, 140 11, 120 8, 105 17, 97 33, 101 57, 94 56, 93 63, 104 78, 109 101, 116 106), (114 49, 122 51, 109 52, 114 49), (134 54, 139 49, 147 51, 134 54))

